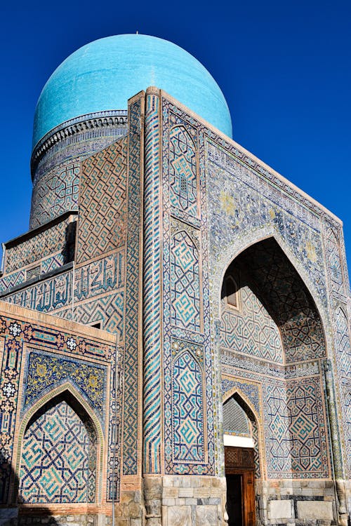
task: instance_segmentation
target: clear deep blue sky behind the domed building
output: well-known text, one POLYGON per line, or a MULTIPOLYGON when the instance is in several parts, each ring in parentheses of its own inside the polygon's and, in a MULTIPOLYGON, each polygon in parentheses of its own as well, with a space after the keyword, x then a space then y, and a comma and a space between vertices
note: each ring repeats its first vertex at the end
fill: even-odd
POLYGON ((0 15, 0 241, 27 231, 41 88, 67 55, 119 33, 192 53, 223 90, 234 139, 344 222, 351 262, 350 1, 6 2, 0 15))

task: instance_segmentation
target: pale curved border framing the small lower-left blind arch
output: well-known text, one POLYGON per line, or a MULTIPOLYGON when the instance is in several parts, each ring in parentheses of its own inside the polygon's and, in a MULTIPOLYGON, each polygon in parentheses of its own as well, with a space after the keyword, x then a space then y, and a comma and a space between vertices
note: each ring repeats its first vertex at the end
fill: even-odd
MULTIPOLYGON (((27 431, 27 428, 29 424, 31 423, 32 419, 36 417, 36 414, 40 412, 41 409, 44 408, 44 406, 51 402, 51 400, 55 400, 55 398, 58 398, 62 396, 63 400, 66 401, 68 405, 71 405, 73 400, 73 407, 72 409, 75 412, 74 406, 79 407, 79 410, 82 410, 84 413, 84 416, 93 425, 93 431, 95 432, 95 438, 96 438, 96 477, 95 477, 95 503, 99 502, 101 500, 101 492, 102 492, 102 466, 103 466, 103 455, 104 455, 104 436, 102 431, 102 426, 100 424, 100 420, 98 419, 98 416, 95 414, 95 411, 93 410, 93 407, 89 405, 83 396, 81 396, 81 393, 77 391, 77 389, 74 388, 74 386, 71 384, 71 382, 65 382, 61 384, 60 386, 56 386, 51 391, 46 392, 41 398, 39 398, 36 403, 34 403, 31 407, 28 408, 27 412, 25 412, 24 417, 21 419, 21 422, 18 426, 18 429, 16 430, 16 435, 18 436, 16 450, 13 452, 13 458, 15 459, 15 473, 20 473, 20 463, 22 459, 22 444, 23 444, 23 438, 25 436, 25 432, 27 431), (68 395, 68 396, 67 396, 68 395), (66 400, 67 396, 67 400, 66 400)), ((16 490, 16 488, 15 488, 16 490)))

